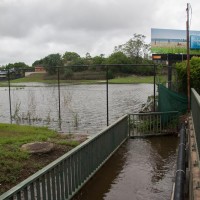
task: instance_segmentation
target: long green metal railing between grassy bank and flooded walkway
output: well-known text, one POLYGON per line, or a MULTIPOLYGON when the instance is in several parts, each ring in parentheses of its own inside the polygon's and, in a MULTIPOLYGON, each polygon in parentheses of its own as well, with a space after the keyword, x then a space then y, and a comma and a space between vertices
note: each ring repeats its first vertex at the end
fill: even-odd
POLYGON ((63 200, 72 198, 128 137, 128 116, 36 172, 1 200, 63 200))

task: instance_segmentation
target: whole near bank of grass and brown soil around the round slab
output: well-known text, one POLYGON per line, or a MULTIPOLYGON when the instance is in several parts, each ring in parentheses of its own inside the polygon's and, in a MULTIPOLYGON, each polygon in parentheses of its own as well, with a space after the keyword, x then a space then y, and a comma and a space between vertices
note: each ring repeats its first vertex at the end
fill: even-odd
POLYGON ((79 144, 67 140, 69 136, 45 127, 0 124, 0 194, 79 144), (52 142, 55 150, 40 155, 20 150, 22 144, 35 141, 52 142))

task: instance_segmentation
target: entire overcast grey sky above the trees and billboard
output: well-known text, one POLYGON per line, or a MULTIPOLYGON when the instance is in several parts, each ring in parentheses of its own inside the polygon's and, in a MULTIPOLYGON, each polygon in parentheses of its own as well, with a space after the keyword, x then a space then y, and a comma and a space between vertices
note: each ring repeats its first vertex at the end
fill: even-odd
POLYGON ((0 0, 0 66, 31 65, 51 53, 110 55, 134 33, 151 28, 200 30, 199 0, 0 0))

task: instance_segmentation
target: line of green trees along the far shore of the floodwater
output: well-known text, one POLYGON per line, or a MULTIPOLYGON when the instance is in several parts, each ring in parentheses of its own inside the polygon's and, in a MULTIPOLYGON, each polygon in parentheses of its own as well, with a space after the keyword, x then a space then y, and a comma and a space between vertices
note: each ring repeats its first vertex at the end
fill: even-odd
MULTIPOLYGON (((147 67, 142 68, 128 66, 128 64, 152 64, 152 61, 148 57, 150 45, 145 43, 145 38, 146 37, 142 34, 134 34, 133 37, 126 43, 116 46, 113 53, 108 57, 105 57, 104 54, 92 57, 90 53, 86 53, 84 57, 81 57, 76 52, 66 51, 63 55, 55 53, 36 60, 32 64, 32 67, 38 65, 43 66, 49 75, 57 73, 57 66, 61 67, 61 69, 63 67, 62 74, 64 74, 65 78, 68 78, 75 72, 82 72, 85 70, 105 70, 105 67, 97 67, 98 65, 125 64, 126 66, 110 67, 109 73, 136 73, 149 75, 153 73, 151 68, 148 69, 147 67)), ((26 68, 28 65, 21 62, 4 66, 6 69, 17 69, 18 67, 26 68)))

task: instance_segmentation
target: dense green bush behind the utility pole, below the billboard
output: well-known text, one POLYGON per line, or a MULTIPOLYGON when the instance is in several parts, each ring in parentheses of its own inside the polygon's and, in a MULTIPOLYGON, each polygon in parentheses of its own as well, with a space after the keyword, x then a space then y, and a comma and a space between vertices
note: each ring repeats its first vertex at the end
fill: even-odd
MULTIPOLYGON (((186 61, 176 63, 179 89, 187 93, 187 63, 186 61)), ((192 57, 190 60, 190 86, 200 93, 200 58, 192 57)))

